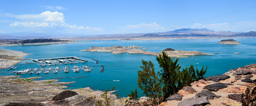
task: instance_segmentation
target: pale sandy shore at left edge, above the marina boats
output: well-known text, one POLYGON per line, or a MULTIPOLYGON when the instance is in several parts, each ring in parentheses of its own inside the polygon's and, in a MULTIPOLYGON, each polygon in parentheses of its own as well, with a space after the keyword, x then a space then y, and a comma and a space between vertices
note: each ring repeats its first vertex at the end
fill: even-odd
POLYGON ((29 55, 21 51, 0 49, 0 69, 8 68, 20 62, 24 56, 29 55))

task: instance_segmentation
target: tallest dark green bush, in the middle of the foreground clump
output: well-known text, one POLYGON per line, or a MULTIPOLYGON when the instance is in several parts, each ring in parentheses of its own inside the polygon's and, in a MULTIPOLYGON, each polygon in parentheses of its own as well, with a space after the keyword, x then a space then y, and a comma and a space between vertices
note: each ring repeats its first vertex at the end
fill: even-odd
POLYGON ((159 54, 159 57, 156 57, 156 60, 158 61, 159 67, 162 68, 161 72, 158 72, 158 74, 163 84, 162 93, 163 99, 165 100, 179 90, 180 86, 178 84, 181 83, 179 79, 181 66, 177 64, 179 58, 173 62, 164 51, 162 51, 162 55, 159 54))

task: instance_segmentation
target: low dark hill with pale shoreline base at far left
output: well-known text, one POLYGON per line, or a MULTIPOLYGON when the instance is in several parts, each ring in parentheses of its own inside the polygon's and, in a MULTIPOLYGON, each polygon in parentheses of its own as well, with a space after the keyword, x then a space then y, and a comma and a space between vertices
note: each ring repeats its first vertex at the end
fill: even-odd
MULTIPOLYGON (((82 41, 80 41, 82 42, 82 41)), ((53 40, 53 39, 33 39, 33 40, 20 40, 17 42, 11 42, 1 46, 20 46, 20 45, 49 45, 49 44, 68 44, 79 43, 78 41, 69 40, 53 40)))

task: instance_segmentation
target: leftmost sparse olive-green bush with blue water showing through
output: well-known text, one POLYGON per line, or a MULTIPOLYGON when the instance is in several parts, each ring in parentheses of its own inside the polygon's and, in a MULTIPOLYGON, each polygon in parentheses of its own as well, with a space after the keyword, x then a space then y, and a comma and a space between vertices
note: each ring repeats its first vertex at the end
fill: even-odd
POLYGON ((138 71, 138 86, 143 90, 143 94, 149 98, 154 105, 160 104, 161 101, 161 83, 154 72, 154 64, 151 61, 141 61, 142 70, 138 71))

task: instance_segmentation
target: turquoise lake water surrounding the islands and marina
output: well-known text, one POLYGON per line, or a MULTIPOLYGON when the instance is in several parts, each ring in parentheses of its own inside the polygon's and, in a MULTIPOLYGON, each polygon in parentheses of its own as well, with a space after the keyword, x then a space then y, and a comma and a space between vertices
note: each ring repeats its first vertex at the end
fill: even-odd
MULTIPOLYGON (((19 74, 21 78, 29 78, 35 76, 41 76, 43 79, 51 79, 57 77, 76 77, 76 76, 87 76, 82 78, 64 78, 58 79, 59 81, 76 81, 66 85, 66 89, 77 89, 82 87, 90 87, 94 90, 105 91, 106 89, 111 89, 115 86, 118 90, 117 93, 121 97, 127 97, 127 94, 131 93, 132 89, 138 89, 139 97, 143 96, 142 91, 137 86, 137 71, 141 70, 140 66, 141 59, 146 61, 151 60, 155 64, 156 71, 159 71, 158 63, 156 57, 152 55, 143 54, 111 54, 107 52, 90 52, 90 51, 79 51, 83 49, 88 49, 89 47, 109 47, 109 46, 130 46, 136 45, 141 47, 147 47, 145 51, 160 52, 166 48, 172 48, 175 50, 184 51, 201 51, 205 53, 215 55, 196 55, 189 56, 187 58, 180 58, 178 63, 182 68, 190 66, 190 64, 197 66, 201 69, 203 64, 208 65, 207 73, 205 76, 214 76, 224 74, 229 71, 229 69, 235 69, 241 66, 256 63, 256 38, 234 38, 240 45, 221 45, 217 42, 223 39, 180 39, 180 40, 144 40, 144 41, 94 41, 85 43, 74 43, 74 44, 55 44, 55 45, 28 45, 28 46, 14 46, 14 47, 0 47, 0 49, 10 49, 15 51, 22 51, 24 53, 29 53, 24 59, 45 59, 54 57, 70 57, 77 56, 81 59, 86 59, 83 57, 89 57, 91 59, 98 60, 98 64, 94 60, 86 59, 86 63, 78 64, 62 64, 57 65, 61 68, 69 66, 72 68, 74 65, 80 68, 85 65, 92 67, 91 72, 58 72, 44 74, 19 74), (240 54, 234 54, 240 53, 240 54), (100 73, 102 69, 101 65, 104 66, 104 72, 100 73), (116 81, 120 80, 120 81, 116 81)), ((176 59, 176 57, 172 58, 176 59)), ((24 70, 27 68, 41 68, 38 63, 35 64, 21 64, 23 62, 32 62, 32 60, 26 60, 16 64, 17 70, 24 70)), ((45 68, 56 66, 45 66, 45 68)), ((13 69, 14 70, 14 69, 13 69)), ((7 71, 7 69, 2 69, 0 71, 7 71)), ((9 75, 0 74, 1 76, 9 75)), ((15 74, 13 74, 15 75, 15 74)))

